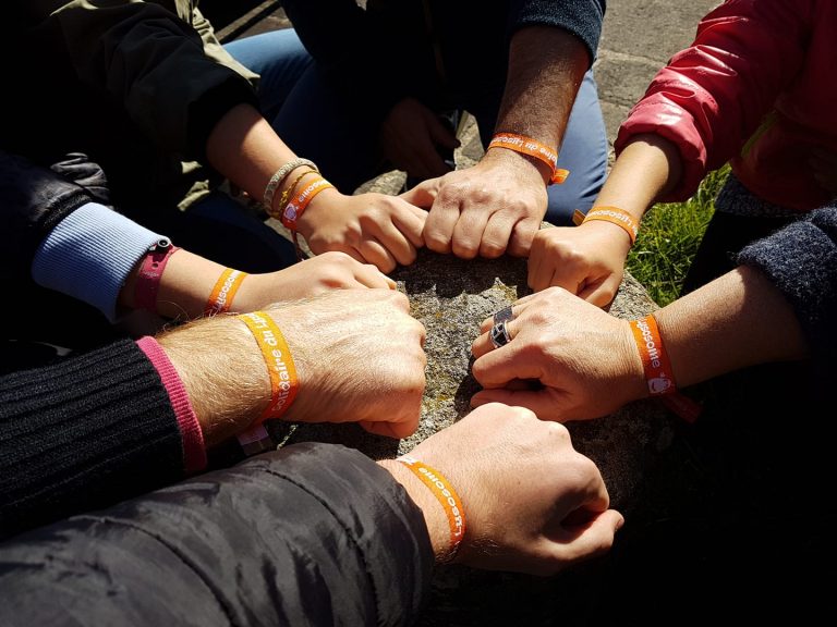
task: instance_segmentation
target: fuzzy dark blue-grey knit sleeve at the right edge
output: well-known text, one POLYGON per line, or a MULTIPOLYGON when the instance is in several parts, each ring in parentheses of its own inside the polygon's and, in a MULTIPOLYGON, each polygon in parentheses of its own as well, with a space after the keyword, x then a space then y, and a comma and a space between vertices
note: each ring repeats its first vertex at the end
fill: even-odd
POLYGON ((744 248, 738 262, 766 274, 790 303, 821 376, 837 380, 837 207, 812 211, 744 248))

